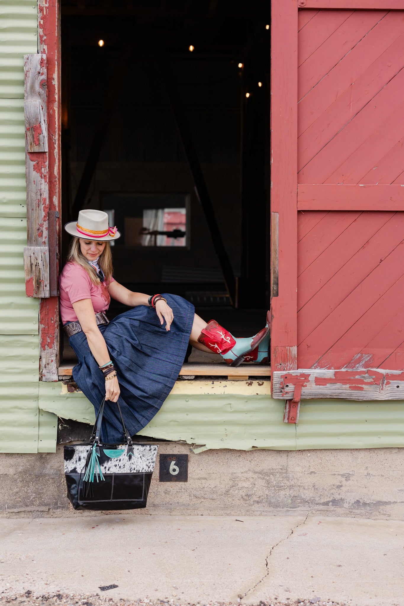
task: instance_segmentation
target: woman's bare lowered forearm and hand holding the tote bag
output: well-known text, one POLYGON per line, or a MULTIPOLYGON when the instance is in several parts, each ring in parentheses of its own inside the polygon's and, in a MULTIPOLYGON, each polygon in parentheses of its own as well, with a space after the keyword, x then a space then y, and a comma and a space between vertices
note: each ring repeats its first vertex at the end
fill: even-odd
MULTIPOLYGON (((107 364, 110 361, 110 355, 108 353, 107 344, 97 326, 95 319, 95 313, 91 299, 81 299, 73 303, 73 309, 75 310, 78 321, 80 322, 81 328, 87 337, 88 347, 90 347, 91 353, 93 354, 96 362, 99 366, 107 364)), ((100 370, 101 373, 101 370, 100 370)), ((116 402, 119 398, 118 379, 110 379, 105 381, 105 399, 111 402, 116 402)))

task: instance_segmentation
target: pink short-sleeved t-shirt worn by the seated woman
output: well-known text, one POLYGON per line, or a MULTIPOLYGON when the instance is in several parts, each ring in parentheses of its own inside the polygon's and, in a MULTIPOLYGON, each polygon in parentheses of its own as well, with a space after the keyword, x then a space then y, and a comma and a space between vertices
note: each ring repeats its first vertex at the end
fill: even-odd
POLYGON ((99 285, 95 285, 91 282, 84 267, 69 261, 59 278, 62 324, 78 321, 73 303, 81 301, 81 299, 91 299, 95 313, 107 311, 111 302, 110 293, 108 293, 108 286, 111 282, 114 282, 114 278, 111 278, 108 284, 101 282, 99 285))

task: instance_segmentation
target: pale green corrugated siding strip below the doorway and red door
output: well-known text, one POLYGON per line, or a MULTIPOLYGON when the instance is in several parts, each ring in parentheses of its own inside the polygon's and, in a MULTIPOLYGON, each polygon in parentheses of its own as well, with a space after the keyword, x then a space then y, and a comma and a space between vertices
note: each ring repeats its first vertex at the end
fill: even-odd
MULTIPOLYGON (((61 391, 61 383, 41 384, 39 406, 65 419, 94 422, 94 408, 84 394, 61 391)), ((283 408, 282 400, 254 390, 247 397, 171 393, 139 435, 237 450, 404 446, 404 401, 303 401, 297 425, 283 423, 283 408)))

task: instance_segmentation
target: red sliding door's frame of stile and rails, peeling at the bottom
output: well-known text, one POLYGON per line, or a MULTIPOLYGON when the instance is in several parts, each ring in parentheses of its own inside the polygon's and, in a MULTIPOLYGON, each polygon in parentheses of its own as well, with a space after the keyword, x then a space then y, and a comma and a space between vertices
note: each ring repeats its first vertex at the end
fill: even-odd
MULTIPOLYGON (((403 0, 272 0, 271 368, 274 398, 402 399, 404 373, 297 369, 297 211, 403 210, 402 185, 297 185, 299 8, 403 10, 403 0), (394 388, 393 388, 393 387, 394 388), (300 396, 299 396, 300 398, 300 396)), ((285 419, 287 420, 287 419, 285 419)), ((290 421, 290 419, 288 419, 290 421)), ((296 416, 292 422, 296 422, 296 416)))

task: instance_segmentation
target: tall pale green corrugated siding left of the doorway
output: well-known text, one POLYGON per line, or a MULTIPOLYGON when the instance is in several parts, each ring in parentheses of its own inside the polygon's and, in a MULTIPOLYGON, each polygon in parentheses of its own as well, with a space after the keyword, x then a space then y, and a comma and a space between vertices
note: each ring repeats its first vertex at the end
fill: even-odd
POLYGON ((38 300, 25 297, 24 55, 37 52, 35 0, 0 0, 0 452, 51 452, 40 413, 38 300))

